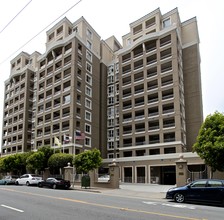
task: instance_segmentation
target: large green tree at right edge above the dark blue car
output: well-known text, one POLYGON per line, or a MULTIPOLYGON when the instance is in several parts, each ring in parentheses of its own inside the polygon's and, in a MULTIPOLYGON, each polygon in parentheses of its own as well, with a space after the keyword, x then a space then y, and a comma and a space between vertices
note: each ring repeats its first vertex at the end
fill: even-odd
POLYGON ((224 115, 215 112, 208 115, 202 124, 193 151, 216 170, 224 171, 224 115))

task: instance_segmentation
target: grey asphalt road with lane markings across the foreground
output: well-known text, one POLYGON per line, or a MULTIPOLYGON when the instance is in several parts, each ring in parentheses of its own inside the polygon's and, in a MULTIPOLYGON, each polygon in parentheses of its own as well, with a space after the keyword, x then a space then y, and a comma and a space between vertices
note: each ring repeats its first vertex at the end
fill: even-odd
POLYGON ((106 192, 0 186, 0 220, 220 220, 223 211, 106 192))

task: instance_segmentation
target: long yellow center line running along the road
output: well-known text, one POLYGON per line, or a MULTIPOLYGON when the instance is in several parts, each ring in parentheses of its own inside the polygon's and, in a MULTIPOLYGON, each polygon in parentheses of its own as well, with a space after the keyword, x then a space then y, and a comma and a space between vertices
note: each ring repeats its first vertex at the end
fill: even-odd
POLYGON ((99 203, 86 202, 86 201, 83 201, 83 200, 75 200, 75 199, 71 199, 71 198, 47 196, 47 195, 44 195, 44 194, 24 192, 24 191, 19 191, 19 190, 8 190, 7 188, 0 188, 0 190, 14 191, 14 192, 22 193, 22 194, 26 194, 26 195, 40 196, 40 197, 57 199, 57 200, 62 200, 62 201, 69 201, 69 202, 74 202, 74 203, 82 203, 82 204, 86 204, 86 205, 104 207, 104 208, 110 208, 110 209, 117 209, 117 210, 121 210, 121 211, 144 213, 144 214, 148 214, 148 215, 157 215, 157 216, 163 216, 163 217, 171 217, 172 219, 203 220, 201 218, 199 219, 199 218, 178 216, 178 215, 165 214, 165 213, 159 213, 159 212, 149 212, 149 211, 144 211, 144 210, 140 210, 140 209, 130 209, 130 208, 124 208, 124 207, 118 207, 118 206, 110 206, 110 205, 104 205, 104 204, 99 204, 99 203))

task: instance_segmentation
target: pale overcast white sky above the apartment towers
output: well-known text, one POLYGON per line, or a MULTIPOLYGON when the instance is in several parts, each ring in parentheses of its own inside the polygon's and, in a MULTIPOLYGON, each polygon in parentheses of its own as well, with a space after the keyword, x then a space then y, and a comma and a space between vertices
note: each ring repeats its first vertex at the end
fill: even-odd
POLYGON ((81 0, 78 2, 79 0, 1 1, 0 134, 2 134, 4 81, 9 78, 10 60, 21 51, 30 54, 34 51, 44 53, 46 31, 65 16, 72 23, 84 16, 102 39, 105 40, 114 35, 120 43, 122 43, 122 36, 129 32, 130 23, 157 8, 160 8, 161 13, 165 14, 177 7, 182 22, 196 17, 200 37, 204 118, 215 111, 224 112, 222 89, 224 86, 224 65, 222 65, 224 64, 223 1, 81 0), (63 15, 76 3, 78 4, 75 7, 63 15), (23 8, 24 10, 22 10, 23 8), (19 13, 20 11, 21 13, 19 13), (18 16, 16 16, 17 14, 18 16), (63 16, 60 17, 61 15, 63 16), (12 20, 14 17, 15 19, 12 20), (59 19, 56 20, 57 18, 59 19), (53 21, 55 22, 52 23, 53 21), (44 30, 47 26, 49 27, 44 30), (44 31, 41 34, 26 44, 42 30, 44 31))

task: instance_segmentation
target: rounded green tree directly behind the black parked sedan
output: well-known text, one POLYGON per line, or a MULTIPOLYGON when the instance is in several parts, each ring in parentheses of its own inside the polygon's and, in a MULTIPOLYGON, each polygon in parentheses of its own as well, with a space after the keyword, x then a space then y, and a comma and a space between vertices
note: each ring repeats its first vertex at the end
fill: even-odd
POLYGON ((53 171, 68 166, 68 163, 72 164, 73 156, 71 154, 56 153, 52 154, 48 160, 48 166, 53 171))

